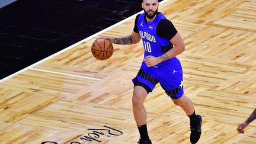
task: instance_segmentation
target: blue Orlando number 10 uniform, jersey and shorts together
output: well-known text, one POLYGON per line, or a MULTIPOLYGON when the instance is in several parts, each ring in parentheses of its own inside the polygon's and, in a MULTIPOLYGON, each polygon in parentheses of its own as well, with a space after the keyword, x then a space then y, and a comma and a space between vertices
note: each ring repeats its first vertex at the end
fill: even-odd
MULTIPOLYGON (((167 20, 161 12, 156 15, 155 20, 149 23, 145 21, 145 14, 136 17, 133 31, 139 33, 140 37, 142 37, 145 50, 144 57, 149 55, 159 57, 173 47, 169 39, 172 39, 171 36, 176 34, 176 29, 171 23, 169 23, 171 25, 167 23, 167 26, 162 27, 163 25, 161 25, 160 21, 163 19, 167 20), (168 26, 170 26, 171 29, 168 29, 168 26), (167 27, 166 29, 168 30, 167 34, 158 33, 158 31, 162 31, 163 28, 165 30, 165 27, 167 27), (158 30, 156 30, 157 28, 158 30)), ((172 57, 171 59, 158 63, 156 66, 150 67, 146 66, 145 62, 142 62, 137 76, 133 79, 135 86, 138 85, 145 88, 148 93, 153 91, 155 85, 158 83, 169 97, 178 99, 183 96, 183 70, 180 60, 178 60, 177 57, 172 57)))

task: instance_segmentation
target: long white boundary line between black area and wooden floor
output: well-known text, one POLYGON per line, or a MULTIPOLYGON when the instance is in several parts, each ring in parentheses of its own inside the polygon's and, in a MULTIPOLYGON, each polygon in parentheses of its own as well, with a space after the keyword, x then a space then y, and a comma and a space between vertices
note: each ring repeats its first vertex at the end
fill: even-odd
MULTIPOLYGON (((167 1, 169 1, 169 0, 161 1, 160 4, 164 4, 164 3, 167 2, 167 1)), ((140 12, 137 12, 137 14, 141 14, 142 12, 143 12, 143 10, 140 11, 140 12)), ((9 75, 9 76, 7 76, 7 77, 1 79, 1 80, 0 80, 0 83, 6 81, 6 80, 9 79, 9 78, 12 78, 12 77, 15 76, 15 75, 18 75, 18 74, 21 73, 21 72, 27 71, 27 69, 33 68, 34 66, 39 65, 40 63, 43 63, 43 62, 45 62, 46 60, 51 59, 52 57, 55 57, 55 56, 57 56, 57 55, 60 55, 61 53, 66 52, 66 51, 68 51, 69 49, 72 49, 73 47, 78 46, 78 45, 81 44, 81 43, 84 43, 84 41, 87 41, 87 40, 89 40, 89 39, 92 39, 92 38, 94 38, 95 36, 98 36, 99 34, 104 33, 105 31, 108 31, 108 30, 110 30, 111 28, 116 27, 117 25, 123 24, 124 22, 129 21, 129 20, 131 20, 132 18, 135 18, 137 14, 134 14, 134 15, 132 15, 132 16, 130 16, 130 17, 128 17, 128 18, 126 18, 126 19, 120 21, 119 23, 116 23, 116 24, 114 24, 114 25, 111 25, 110 27, 105 28, 104 30, 99 31, 98 33, 95 33, 95 34, 93 34, 92 36, 89 36, 89 37, 87 37, 86 39, 79 41, 78 43, 72 44, 71 46, 67 47, 66 49, 60 50, 59 52, 57 52, 57 53, 55 53, 55 54, 53 54, 53 55, 50 55, 50 56, 48 56, 48 57, 46 57, 46 58, 40 60, 39 62, 36 62, 36 63, 34 63, 33 65, 28 66, 27 68, 21 69, 20 71, 15 72, 15 73, 13 73, 12 75, 9 75)))

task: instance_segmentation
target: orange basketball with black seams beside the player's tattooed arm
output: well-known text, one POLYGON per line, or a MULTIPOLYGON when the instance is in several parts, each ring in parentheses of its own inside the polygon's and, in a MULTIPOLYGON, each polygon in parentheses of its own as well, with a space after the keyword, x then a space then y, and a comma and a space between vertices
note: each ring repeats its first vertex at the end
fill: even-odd
POLYGON ((114 47, 108 39, 100 38, 91 46, 92 55, 98 60, 106 60, 112 56, 114 47))

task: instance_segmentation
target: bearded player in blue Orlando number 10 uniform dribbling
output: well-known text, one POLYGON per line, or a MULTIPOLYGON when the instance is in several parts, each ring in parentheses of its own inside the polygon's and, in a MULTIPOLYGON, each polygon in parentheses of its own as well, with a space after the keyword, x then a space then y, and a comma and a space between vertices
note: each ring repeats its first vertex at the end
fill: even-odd
POLYGON ((190 118, 190 142, 197 143, 201 135, 201 116, 197 115, 191 100, 184 95, 183 70, 177 55, 185 50, 183 39, 171 21, 158 12, 158 0, 143 0, 143 14, 135 20, 132 34, 121 38, 105 37, 114 44, 135 44, 143 41, 144 60, 136 77, 132 80, 133 115, 139 129, 138 143, 151 143, 146 126, 146 110, 143 101, 158 82, 167 95, 179 105, 190 118), (173 46, 174 45, 174 46, 173 46))

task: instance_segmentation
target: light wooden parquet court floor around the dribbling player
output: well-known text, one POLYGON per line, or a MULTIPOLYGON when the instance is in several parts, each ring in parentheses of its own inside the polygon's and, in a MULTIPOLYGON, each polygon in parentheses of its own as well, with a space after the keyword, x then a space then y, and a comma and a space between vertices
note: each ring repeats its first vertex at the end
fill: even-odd
MULTIPOLYGON (((186 45, 184 91, 203 117, 199 143, 256 143, 256 1, 169 0, 159 7, 186 45)), ((0 83, 0 143, 137 143, 133 84, 142 43, 91 55, 100 36, 122 37, 135 18, 0 83)), ((157 85, 145 101, 153 143, 189 143, 189 119, 157 85)))

